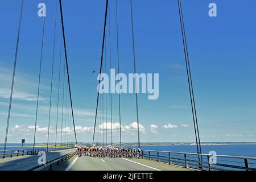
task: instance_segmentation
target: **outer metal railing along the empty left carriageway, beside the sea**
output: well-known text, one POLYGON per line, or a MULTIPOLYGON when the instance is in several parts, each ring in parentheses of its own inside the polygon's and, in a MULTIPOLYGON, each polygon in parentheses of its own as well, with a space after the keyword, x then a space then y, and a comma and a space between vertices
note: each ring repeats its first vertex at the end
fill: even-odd
POLYGON ((58 151, 58 150, 65 150, 72 147, 64 147, 64 148, 38 148, 36 147, 34 150, 32 148, 28 149, 15 149, 15 150, 0 150, 0 159, 4 158, 12 158, 14 156, 22 156, 22 155, 32 155, 32 154, 38 154, 39 151, 44 152, 52 152, 52 151, 58 151))

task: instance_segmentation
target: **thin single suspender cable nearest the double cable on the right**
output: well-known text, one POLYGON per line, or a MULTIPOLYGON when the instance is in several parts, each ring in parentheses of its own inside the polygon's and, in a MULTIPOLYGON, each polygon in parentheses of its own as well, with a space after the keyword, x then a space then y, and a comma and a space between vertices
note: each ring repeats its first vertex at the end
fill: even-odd
POLYGON ((133 26, 133 2, 130 0, 131 5, 131 29, 133 32, 133 64, 134 64, 134 74, 135 74, 135 98, 136 98, 136 113, 137 113, 137 127, 138 127, 138 147, 141 147, 139 140, 139 111, 138 111, 138 94, 137 94, 137 78, 136 78, 136 63, 135 63, 135 46, 134 46, 134 26, 133 26))

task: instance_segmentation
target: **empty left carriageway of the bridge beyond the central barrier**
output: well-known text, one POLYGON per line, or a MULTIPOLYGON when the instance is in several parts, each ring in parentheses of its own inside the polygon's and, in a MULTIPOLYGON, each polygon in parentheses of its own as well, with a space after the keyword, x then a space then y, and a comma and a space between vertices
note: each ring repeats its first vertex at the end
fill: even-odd
MULTIPOLYGON (((52 151, 46 153, 46 161, 55 160, 65 154, 75 151, 74 149, 52 151)), ((0 159, 0 171, 28 171, 38 167, 39 156, 35 155, 24 155, 13 158, 0 159)))

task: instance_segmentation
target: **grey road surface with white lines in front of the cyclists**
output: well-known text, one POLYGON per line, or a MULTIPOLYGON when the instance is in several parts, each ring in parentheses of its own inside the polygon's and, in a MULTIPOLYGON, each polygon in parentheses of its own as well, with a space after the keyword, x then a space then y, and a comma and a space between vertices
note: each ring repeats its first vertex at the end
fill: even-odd
POLYGON ((59 166, 52 167, 55 171, 191 171, 192 169, 173 166, 146 159, 126 158, 92 158, 89 156, 73 156, 59 166))

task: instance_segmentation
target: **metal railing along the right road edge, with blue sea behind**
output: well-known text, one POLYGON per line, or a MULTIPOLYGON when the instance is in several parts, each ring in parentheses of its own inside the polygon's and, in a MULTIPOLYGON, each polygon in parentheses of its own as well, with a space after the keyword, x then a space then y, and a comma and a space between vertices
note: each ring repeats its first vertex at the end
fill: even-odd
POLYGON ((141 157, 157 162, 205 171, 256 170, 256 158, 243 156, 142 150, 141 157))

